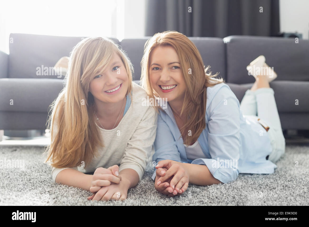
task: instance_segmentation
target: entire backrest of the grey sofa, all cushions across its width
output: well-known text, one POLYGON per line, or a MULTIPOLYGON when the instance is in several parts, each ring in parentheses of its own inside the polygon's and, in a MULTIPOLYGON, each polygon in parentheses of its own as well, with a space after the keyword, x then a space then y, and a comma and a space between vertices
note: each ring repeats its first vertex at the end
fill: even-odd
MULTIPOLYGON (((53 67, 63 56, 69 56, 82 38, 11 33, 8 78, 58 78, 57 75, 36 75, 37 67, 53 67)), ((133 80, 141 77, 144 45, 150 37, 112 38, 127 53, 134 66, 133 80)), ((188 37, 201 53, 204 65, 210 65, 212 74, 219 73, 228 83, 253 83, 246 66, 259 55, 274 67, 276 80, 309 81, 309 40, 261 36, 188 37)))

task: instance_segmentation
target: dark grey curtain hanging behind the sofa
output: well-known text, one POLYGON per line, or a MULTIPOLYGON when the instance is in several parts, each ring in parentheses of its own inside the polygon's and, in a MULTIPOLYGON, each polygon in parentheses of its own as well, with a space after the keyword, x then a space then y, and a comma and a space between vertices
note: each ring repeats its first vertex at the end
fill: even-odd
POLYGON ((145 26, 145 36, 167 30, 199 37, 276 36, 279 0, 146 0, 145 26))

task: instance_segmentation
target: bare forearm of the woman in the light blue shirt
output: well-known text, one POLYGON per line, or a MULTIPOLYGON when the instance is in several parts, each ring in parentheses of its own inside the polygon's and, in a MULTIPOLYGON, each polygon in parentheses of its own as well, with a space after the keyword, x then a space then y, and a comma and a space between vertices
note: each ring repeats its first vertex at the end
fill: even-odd
POLYGON ((212 185, 222 183, 210 173, 205 165, 197 165, 190 163, 181 163, 181 165, 188 171, 189 183, 195 185, 212 185))

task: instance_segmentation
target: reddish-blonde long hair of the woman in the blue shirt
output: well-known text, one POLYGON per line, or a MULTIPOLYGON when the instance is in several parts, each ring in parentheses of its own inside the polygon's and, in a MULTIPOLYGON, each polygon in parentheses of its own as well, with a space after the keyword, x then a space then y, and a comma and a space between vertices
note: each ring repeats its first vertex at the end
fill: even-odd
MULTIPOLYGON (((212 77, 218 76, 218 73, 211 75, 210 71, 207 74, 210 66, 208 65, 205 68, 200 52, 187 36, 176 31, 156 33, 146 41, 141 62, 141 86, 145 88, 151 98, 156 99, 159 97, 150 83, 149 67, 151 52, 158 46, 167 45, 173 47, 178 54, 184 82, 187 87, 180 116, 186 116, 188 120, 180 128, 180 132, 183 135, 184 144, 190 145, 193 141, 197 140, 206 127, 206 88, 225 81, 223 78, 211 80, 212 77), (191 74, 188 73, 189 69, 191 69, 191 74), (189 133, 187 133, 189 130, 191 130, 192 136, 189 136, 189 133)), ((157 107, 157 111, 159 109, 162 110, 160 106, 157 107)))

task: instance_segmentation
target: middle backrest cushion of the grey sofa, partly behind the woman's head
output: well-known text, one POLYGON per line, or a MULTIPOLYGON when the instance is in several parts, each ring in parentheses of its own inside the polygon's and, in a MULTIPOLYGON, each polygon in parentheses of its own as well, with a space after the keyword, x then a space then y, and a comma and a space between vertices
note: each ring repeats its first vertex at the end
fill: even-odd
MULTIPOLYGON (((144 53, 144 45, 150 37, 144 39, 124 39, 120 45, 128 54, 132 64, 134 65, 133 80, 138 81, 141 78, 141 61, 144 53)), ((212 75, 219 72, 218 78, 226 79, 226 62, 225 48, 221 38, 213 37, 188 37, 199 50, 204 65, 210 65, 212 75)))

